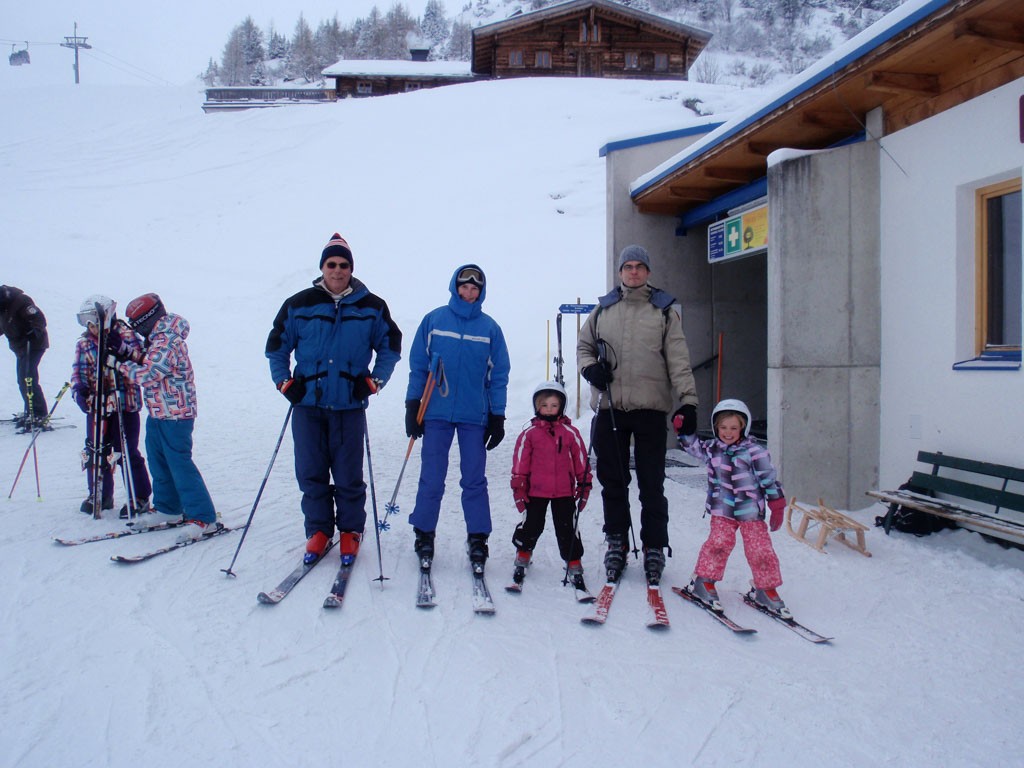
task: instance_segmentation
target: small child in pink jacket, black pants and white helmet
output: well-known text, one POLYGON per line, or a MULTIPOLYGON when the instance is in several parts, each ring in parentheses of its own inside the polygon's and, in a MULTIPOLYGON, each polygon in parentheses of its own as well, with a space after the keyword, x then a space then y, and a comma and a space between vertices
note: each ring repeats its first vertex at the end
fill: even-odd
POLYGON ((516 439, 511 484, 522 519, 512 536, 516 547, 512 580, 516 586, 522 585, 534 548, 544 532, 551 502, 558 552, 566 562, 573 587, 586 592, 581 562, 583 541, 575 522, 590 497, 590 458, 580 430, 565 416, 565 390, 556 381, 538 386, 534 390, 536 416, 516 439))

